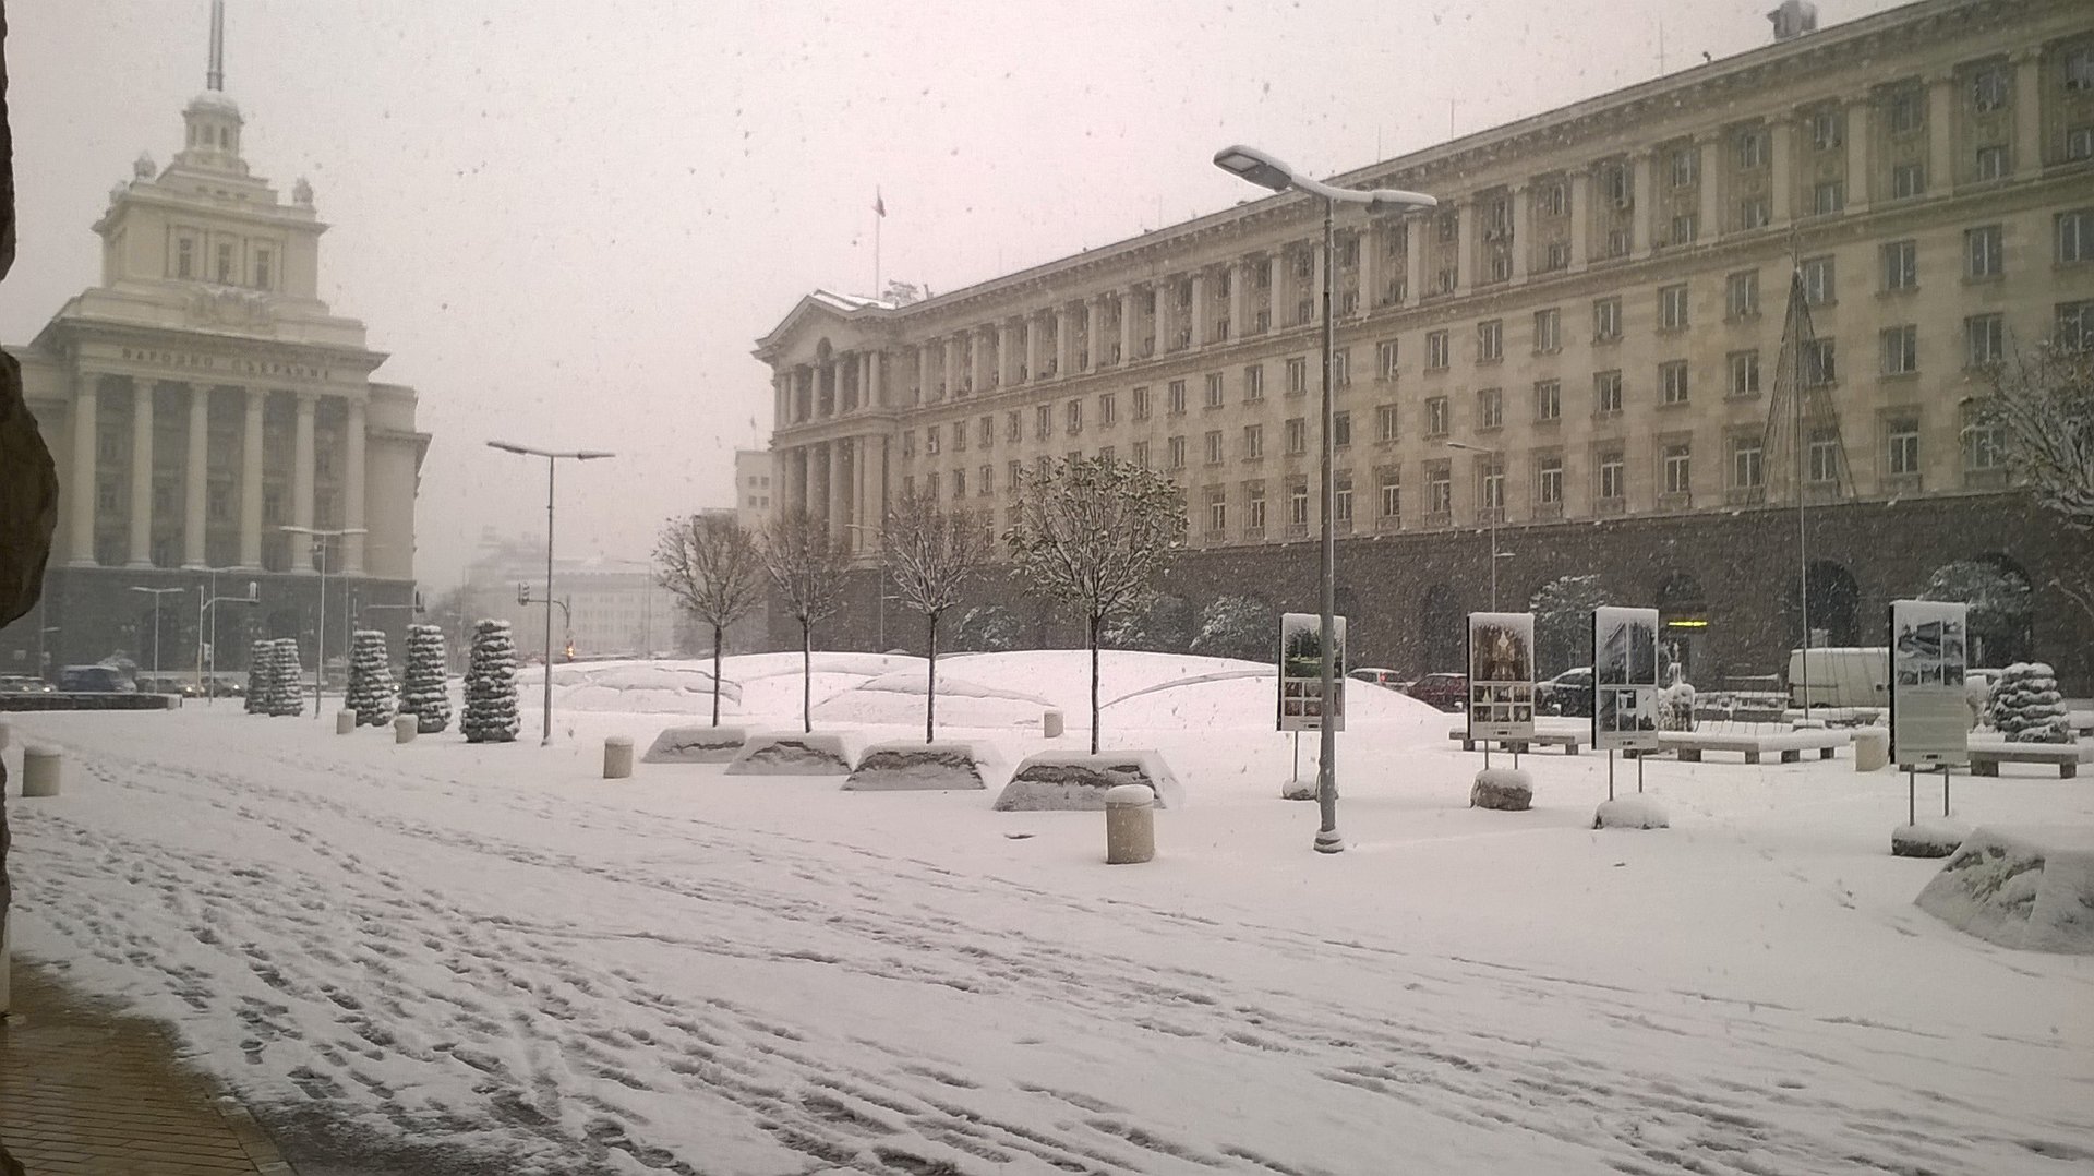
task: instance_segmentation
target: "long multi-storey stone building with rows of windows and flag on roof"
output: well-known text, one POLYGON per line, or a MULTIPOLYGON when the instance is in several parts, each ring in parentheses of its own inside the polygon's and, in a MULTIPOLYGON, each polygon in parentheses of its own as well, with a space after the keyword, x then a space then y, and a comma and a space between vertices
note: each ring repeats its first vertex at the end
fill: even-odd
MULTIPOLYGON (((1665 612, 1696 681, 1776 673, 1801 635, 1801 495, 1818 639, 1880 641, 1885 602, 1975 560, 2035 589, 1989 660, 2094 669, 2056 587, 2086 537, 2037 516, 1966 409, 1989 361, 2094 331, 2086 4, 1910 4, 1334 182, 1441 201, 1340 210, 1359 660, 1457 669, 1495 564, 1503 608, 1589 572, 1665 612), (1815 342, 1784 428, 1795 273, 1815 342)), ((1185 488, 1173 593, 1313 608, 1319 218, 1279 195, 907 306, 804 298, 756 350, 783 505, 863 543, 854 524, 930 488, 1003 526, 1020 472, 1116 453, 1185 488)))

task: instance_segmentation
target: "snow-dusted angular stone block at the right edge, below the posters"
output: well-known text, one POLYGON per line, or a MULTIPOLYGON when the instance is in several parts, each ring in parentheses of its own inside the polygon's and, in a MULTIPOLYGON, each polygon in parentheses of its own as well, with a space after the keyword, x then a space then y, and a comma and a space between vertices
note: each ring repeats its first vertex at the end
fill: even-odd
POLYGON ((1916 903, 2002 948, 2094 956, 2094 826, 1981 826, 1916 903))

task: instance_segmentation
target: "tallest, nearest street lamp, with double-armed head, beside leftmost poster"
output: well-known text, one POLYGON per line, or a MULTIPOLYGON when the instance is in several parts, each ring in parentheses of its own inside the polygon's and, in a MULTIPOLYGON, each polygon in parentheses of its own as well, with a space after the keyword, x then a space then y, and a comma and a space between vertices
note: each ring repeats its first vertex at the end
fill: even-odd
POLYGON ((1315 849, 1317 853, 1338 853, 1344 849, 1344 839, 1338 836, 1338 732, 1332 715, 1338 700, 1338 532, 1332 518, 1338 507, 1338 495, 1332 482, 1334 451, 1330 407, 1330 369, 1336 363, 1334 356, 1338 350, 1338 329, 1332 319, 1332 291, 1338 285, 1338 258, 1332 247, 1332 222, 1338 216, 1340 203, 1361 203, 1367 205, 1367 212, 1407 212, 1418 208, 1439 208, 1439 201, 1424 193, 1407 193, 1399 189, 1338 189, 1294 172, 1294 168, 1288 168, 1256 147, 1223 147, 1215 153, 1215 166, 1231 176, 1258 184, 1261 189, 1271 189, 1275 193, 1294 189, 1298 193, 1323 197, 1323 568, 1317 583, 1321 589, 1323 612, 1323 685, 1317 717, 1319 750, 1315 769, 1315 799, 1321 822, 1315 832, 1315 849))

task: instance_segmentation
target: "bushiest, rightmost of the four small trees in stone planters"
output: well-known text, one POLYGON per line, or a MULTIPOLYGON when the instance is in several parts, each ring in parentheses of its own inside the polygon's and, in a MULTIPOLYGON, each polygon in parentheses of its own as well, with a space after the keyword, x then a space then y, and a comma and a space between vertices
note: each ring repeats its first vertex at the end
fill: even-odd
POLYGON ((1185 545, 1179 488, 1131 461, 1068 457, 1026 476, 1003 541, 1028 587, 1083 616, 1097 755, 1097 635, 1154 595, 1156 572, 1185 545))

